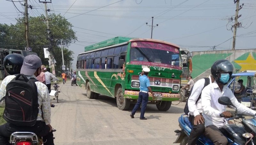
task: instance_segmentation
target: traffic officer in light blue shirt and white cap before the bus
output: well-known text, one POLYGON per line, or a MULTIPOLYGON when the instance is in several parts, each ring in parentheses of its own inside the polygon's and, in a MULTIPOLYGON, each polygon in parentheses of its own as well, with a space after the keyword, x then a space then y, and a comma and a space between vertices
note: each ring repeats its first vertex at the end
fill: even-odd
POLYGON ((140 111, 140 119, 141 120, 147 120, 148 118, 144 117, 145 114, 145 110, 147 107, 147 103, 148 103, 148 92, 150 92, 153 96, 153 100, 155 99, 154 93, 152 92, 151 88, 150 88, 150 83, 149 83, 149 79, 148 79, 148 72, 150 72, 150 69, 148 67, 143 68, 141 74, 140 74, 140 93, 139 93, 139 98, 138 101, 136 103, 136 105, 134 106, 132 113, 130 114, 131 118, 134 118, 134 114, 137 111, 137 109, 140 107, 141 105, 141 111, 140 111))

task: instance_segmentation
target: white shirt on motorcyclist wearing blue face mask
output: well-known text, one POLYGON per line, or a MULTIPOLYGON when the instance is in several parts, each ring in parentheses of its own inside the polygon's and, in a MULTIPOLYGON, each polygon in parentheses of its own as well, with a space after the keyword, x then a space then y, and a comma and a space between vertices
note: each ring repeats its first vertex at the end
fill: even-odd
POLYGON ((237 107, 237 112, 243 113, 248 116, 254 116, 256 111, 245 107, 239 103, 233 94, 233 92, 224 86, 222 92, 216 82, 206 86, 202 91, 202 107, 203 107, 203 117, 205 126, 214 125, 218 128, 228 124, 225 118, 220 118, 220 114, 226 111, 226 105, 221 105, 218 99, 221 96, 227 96, 230 98, 231 102, 237 107))

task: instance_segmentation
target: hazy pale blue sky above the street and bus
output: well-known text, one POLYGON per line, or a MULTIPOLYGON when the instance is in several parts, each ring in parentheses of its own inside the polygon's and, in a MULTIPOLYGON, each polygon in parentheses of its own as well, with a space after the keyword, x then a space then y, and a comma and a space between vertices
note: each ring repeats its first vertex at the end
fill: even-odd
MULTIPOLYGON (((11 1, 0 1, 0 23, 15 24, 15 18, 23 17, 19 11, 24 11, 24 2, 18 2, 23 0, 13 0, 19 11, 11 1)), ((38 0, 28 0, 28 4, 33 6, 28 11, 30 16, 45 15, 44 5, 38 0)), ((256 0, 240 0, 242 4, 236 49, 255 49, 256 0)), ((52 0, 47 6, 49 13, 68 19, 76 32, 78 41, 68 47, 74 51, 72 68, 85 46, 116 36, 150 38, 151 17, 153 39, 178 44, 190 52, 212 50, 213 46, 216 50, 232 49, 233 0, 52 0)))

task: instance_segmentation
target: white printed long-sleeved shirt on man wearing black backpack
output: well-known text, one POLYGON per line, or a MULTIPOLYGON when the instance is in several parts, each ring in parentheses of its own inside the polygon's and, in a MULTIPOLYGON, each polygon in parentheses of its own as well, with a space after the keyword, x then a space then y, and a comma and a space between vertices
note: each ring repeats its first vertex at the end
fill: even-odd
MULTIPOLYGON (((27 76, 28 79, 30 78, 36 78, 35 75, 27 76)), ((15 78, 15 75, 9 75, 4 78, 2 81, 2 84, 0 85, 0 99, 2 99, 6 94, 6 85, 15 78)), ((38 115, 36 120, 42 120, 45 122, 46 125, 51 123, 51 102, 50 102, 50 96, 49 91, 46 85, 44 85, 42 82, 36 81, 36 87, 37 87, 37 94, 38 94, 38 115), (42 106, 42 110, 41 110, 42 106), (42 111, 44 114, 44 118, 42 118, 42 111)))

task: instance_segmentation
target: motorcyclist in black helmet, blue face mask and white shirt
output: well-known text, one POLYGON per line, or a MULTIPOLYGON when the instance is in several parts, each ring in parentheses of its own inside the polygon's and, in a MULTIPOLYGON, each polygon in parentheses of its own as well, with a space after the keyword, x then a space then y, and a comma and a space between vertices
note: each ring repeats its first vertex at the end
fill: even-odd
POLYGON ((228 144, 227 138, 220 132, 219 128, 228 124, 226 118, 231 118, 232 114, 226 111, 226 106, 218 103, 221 96, 227 96, 236 106, 237 111, 248 116, 254 116, 256 111, 249 109, 239 103, 233 92, 225 86, 234 71, 234 65, 228 60, 222 59, 216 61, 211 68, 211 73, 215 82, 206 86, 201 95, 203 117, 205 124, 205 136, 216 145, 228 144), (224 118, 220 117, 224 114, 224 118))

